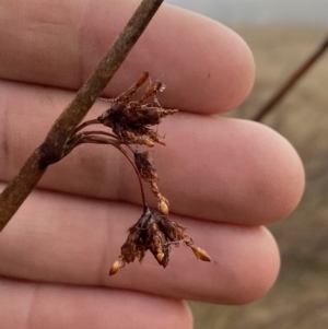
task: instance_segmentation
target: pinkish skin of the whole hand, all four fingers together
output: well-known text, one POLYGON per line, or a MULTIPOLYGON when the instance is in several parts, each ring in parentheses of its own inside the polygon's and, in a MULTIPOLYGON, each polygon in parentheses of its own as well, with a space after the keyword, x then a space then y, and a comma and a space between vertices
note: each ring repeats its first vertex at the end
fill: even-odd
MULTIPOLYGON (((0 1, 1 188, 138 3, 0 1)), ((298 203, 302 163, 268 127, 213 116, 249 93, 249 49, 225 26, 164 4, 104 96, 120 94, 145 70, 167 85, 162 106, 180 109, 159 128, 167 144, 152 153, 160 188, 171 218, 212 261, 173 247, 165 270, 147 255, 108 277, 141 198, 119 152, 83 145, 47 171, 0 234, 1 328, 191 328, 184 298, 242 304, 274 283, 279 250, 263 225, 298 203)), ((87 118, 107 107, 98 101, 87 118)))

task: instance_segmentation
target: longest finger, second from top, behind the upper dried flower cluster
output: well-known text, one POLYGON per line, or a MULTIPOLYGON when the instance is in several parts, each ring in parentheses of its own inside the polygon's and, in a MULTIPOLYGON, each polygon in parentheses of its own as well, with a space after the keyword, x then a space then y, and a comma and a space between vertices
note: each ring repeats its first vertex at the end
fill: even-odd
MULTIPOLYGON (((0 178, 9 179, 43 142, 71 95, 8 82, 0 86, 0 178)), ((104 109, 97 103, 90 118, 104 109)), ((298 203, 304 188, 302 163, 293 148, 269 128, 181 114, 165 119, 159 129, 167 146, 156 146, 152 156, 172 212, 266 224, 281 220, 298 203)), ((50 166, 39 186, 140 203, 134 177, 130 164, 114 148, 83 145, 50 166)), ((148 200, 155 205, 152 196, 148 200)))

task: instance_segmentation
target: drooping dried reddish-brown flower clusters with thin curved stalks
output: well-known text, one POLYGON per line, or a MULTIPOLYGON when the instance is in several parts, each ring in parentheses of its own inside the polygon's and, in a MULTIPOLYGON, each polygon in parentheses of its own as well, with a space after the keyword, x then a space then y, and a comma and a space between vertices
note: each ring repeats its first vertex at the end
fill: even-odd
POLYGON ((155 95, 165 87, 160 81, 150 83, 144 94, 137 97, 138 90, 148 80, 149 73, 142 73, 128 91, 109 99, 110 107, 98 118, 80 125, 74 130, 66 150, 66 154, 68 154, 82 143, 110 144, 129 160, 139 178, 143 213, 138 222, 129 228, 128 238, 120 249, 120 256, 110 268, 110 275, 126 263, 134 261, 136 258, 141 261, 147 250, 150 250, 157 262, 165 268, 168 263, 171 246, 178 245, 180 242, 190 247, 198 259, 210 261, 206 250, 194 245, 192 238, 185 233, 186 228, 168 219, 169 203, 157 186, 157 172, 150 152, 140 152, 137 149, 138 145, 152 148, 155 143, 165 145, 152 127, 157 126, 167 115, 177 113, 177 109, 164 109, 159 104, 155 95), (153 97, 154 104, 147 103, 150 97, 153 97), (85 127, 99 124, 110 128, 112 132, 81 131, 85 127), (122 145, 132 152, 132 158, 122 145), (142 180, 150 185, 152 193, 157 199, 157 211, 152 211, 147 205, 142 180))

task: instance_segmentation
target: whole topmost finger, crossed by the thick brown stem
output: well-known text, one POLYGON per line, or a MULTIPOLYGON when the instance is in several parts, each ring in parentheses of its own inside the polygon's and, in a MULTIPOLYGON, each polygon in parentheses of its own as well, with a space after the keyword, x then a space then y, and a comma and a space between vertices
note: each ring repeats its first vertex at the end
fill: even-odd
MULTIPOLYGON (((80 87, 138 3, 2 0, 0 77, 80 87)), ((235 107, 254 80, 250 51, 235 33, 165 4, 105 94, 120 94, 143 71, 167 85, 165 106, 203 113, 235 107)))

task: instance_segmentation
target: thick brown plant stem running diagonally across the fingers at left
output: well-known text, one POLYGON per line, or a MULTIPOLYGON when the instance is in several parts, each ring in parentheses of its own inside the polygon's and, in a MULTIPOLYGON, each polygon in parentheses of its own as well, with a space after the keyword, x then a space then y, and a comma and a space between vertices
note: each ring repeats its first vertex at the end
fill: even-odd
POLYGON ((0 232, 36 186, 49 164, 65 155, 65 148, 79 122, 99 97, 164 0, 142 0, 108 52, 75 97, 55 121, 44 143, 24 163, 0 195, 0 232))

